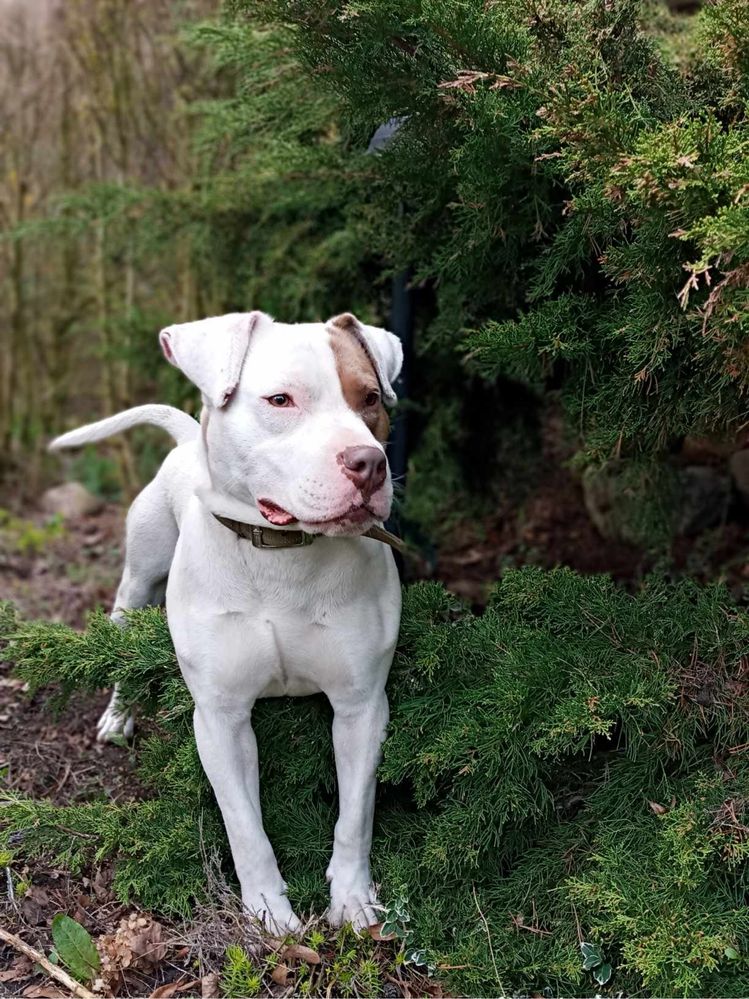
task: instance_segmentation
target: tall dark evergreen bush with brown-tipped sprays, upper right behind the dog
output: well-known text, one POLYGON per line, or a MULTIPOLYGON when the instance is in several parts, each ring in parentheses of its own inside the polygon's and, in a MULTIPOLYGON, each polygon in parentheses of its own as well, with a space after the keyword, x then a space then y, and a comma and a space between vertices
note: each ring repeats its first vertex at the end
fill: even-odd
MULTIPOLYGON (((435 288, 415 388, 432 421, 471 391, 460 351, 487 379, 561 386, 588 463, 652 462, 743 424, 746 0, 692 18, 639 0, 232 8, 293 27, 352 130, 401 120, 353 211, 371 248, 435 288)), ((456 470, 434 456, 427 424, 414 474, 437 504, 456 470)))

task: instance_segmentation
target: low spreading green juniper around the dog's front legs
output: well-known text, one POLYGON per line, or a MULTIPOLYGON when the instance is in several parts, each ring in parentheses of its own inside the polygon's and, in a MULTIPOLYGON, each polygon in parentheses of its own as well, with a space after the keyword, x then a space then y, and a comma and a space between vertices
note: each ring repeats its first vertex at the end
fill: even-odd
MULTIPOLYGON (((137 747, 149 797, 10 797, 6 843, 73 872, 113 857, 121 898, 187 914, 204 850, 228 851, 162 614, 135 612, 124 629, 96 614, 82 635, 0 618, 33 688, 117 679, 154 719, 137 747)), ((449 972, 464 994, 746 994, 747 654, 749 618, 717 586, 652 578, 627 593, 526 568, 479 616, 436 584, 407 587, 373 851, 403 959, 464 966, 449 972)), ((327 703, 264 701, 255 727, 290 896, 321 911, 327 703)), ((336 987, 353 975, 362 994, 367 956, 340 960, 336 987)))

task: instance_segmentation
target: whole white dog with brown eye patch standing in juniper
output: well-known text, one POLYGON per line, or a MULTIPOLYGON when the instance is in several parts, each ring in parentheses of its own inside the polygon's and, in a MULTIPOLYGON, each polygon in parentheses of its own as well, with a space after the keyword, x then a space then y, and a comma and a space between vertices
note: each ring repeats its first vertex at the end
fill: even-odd
MULTIPOLYGON (((328 915, 361 929, 377 920, 375 773, 400 622, 398 573, 378 526, 392 501, 383 403, 395 401, 400 342, 349 314, 286 325, 261 312, 169 326, 159 339, 202 393, 200 424, 169 406, 140 406, 51 447, 139 423, 175 438, 128 513, 112 617, 122 622, 166 592, 242 899, 272 930, 300 923, 263 830, 252 707, 258 697, 327 695, 340 799, 328 915)), ((132 729, 116 698, 100 738, 132 729)))

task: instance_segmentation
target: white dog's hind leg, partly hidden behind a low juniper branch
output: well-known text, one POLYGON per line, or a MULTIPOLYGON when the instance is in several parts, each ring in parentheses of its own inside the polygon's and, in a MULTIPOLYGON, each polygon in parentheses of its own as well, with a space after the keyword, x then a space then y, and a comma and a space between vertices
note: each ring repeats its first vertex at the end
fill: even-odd
MULTIPOLYGON (((114 601, 111 620, 127 627, 126 611, 158 607, 164 603, 166 580, 178 537, 177 523, 164 487, 155 478, 133 502, 125 529, 125 568, 114 601)), ((99 718, 99 742, 117 742, 133 734, 133 716, 121 706, 115 685, 109 704, 99 718)))

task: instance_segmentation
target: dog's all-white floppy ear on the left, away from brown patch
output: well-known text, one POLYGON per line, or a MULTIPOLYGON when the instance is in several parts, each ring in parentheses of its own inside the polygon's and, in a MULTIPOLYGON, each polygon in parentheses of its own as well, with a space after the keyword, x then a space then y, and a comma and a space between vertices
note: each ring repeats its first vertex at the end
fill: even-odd
POLYGON ((220 409, 239 383, 250 334, 261 317, 266 318, 262 312, 231 312, 194 323, 178 323, 159 333, 159 343, 169 363, 220 409))

